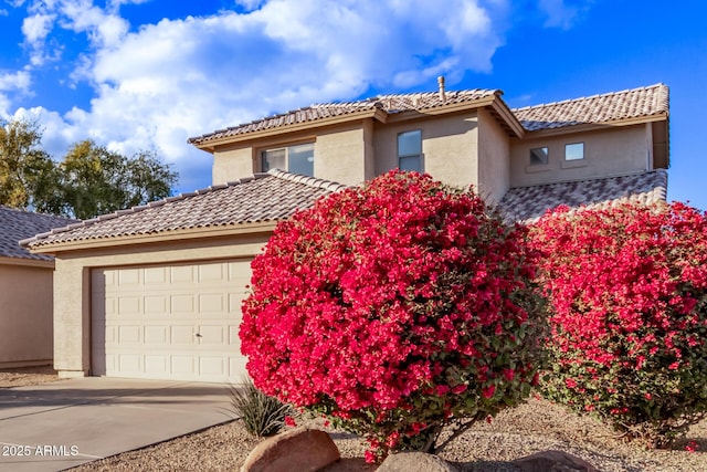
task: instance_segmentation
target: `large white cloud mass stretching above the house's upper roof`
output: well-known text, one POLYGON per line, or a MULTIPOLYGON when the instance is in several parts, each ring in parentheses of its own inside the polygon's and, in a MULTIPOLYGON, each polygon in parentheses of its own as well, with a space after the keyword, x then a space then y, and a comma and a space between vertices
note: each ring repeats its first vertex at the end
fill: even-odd
MULTIPOLYGON (((63 116, 23 113, 41 116, 54 153, 84 138, 125 154, 155 148, 176 162, 186 189, 211 165, 189 136, 371 87, 435 87, 440 74, 453 86, 465 71, 490 69, 507 10, 499 0, 238 0, 246 12, 130 32, 120 3, 127 1, 104 10, 87 0, 33 4, 34 14, 56 14, 54 24, 89 39, 72 78, 88 81, 95 94, 87 109, 63 116)), ((40 41, 44 31, 28 27, 25 38, 40 41)))

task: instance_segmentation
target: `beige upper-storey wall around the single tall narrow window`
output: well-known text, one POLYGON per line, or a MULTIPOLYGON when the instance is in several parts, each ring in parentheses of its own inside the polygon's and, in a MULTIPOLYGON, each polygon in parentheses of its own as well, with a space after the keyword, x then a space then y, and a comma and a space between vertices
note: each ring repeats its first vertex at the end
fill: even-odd
POLYGON ((478 183, 478 123, 476 113, 430 116, 400 123, 376 124, 376 174, 398 167, 398 134, 420 129, 424 171, 455 187, 478 183))

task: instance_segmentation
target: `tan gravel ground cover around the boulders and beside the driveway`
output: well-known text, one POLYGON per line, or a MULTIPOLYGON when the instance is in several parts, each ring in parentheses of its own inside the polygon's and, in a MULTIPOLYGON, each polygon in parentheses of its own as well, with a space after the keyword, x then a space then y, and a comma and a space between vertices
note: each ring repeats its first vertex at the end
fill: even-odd
MULTIPOLYGON (((32 385, 32 379, 34 384, 52 381, 52 377, 55 379, 46 370, 35 377, 27 370, 0 371, 0 387, 32 385)), ((319 420, 300 423, 321 426, 319 420)), ((341 431, 329 432, 345 458, 337 471, 374 470, 362 460, 365 445, 359 438, 341 431)), ((234 420, 72 470, 238 471, 257 442, 234 420)), ((624 443, 611 429, 591 418, 576 416, 541 399, 530 399, 526 405, 502 412, 490 423, 475 426, 440 455, 463 471, 499 472, 516 471, 509 463, 514 459, 550 449, 578 455, 606 472, 701 472, 707 471, 707 420, 693 427, 673 450, 644 450, 624 443), (696 443, 696 452, 685 450, 690 441, 696 443)))

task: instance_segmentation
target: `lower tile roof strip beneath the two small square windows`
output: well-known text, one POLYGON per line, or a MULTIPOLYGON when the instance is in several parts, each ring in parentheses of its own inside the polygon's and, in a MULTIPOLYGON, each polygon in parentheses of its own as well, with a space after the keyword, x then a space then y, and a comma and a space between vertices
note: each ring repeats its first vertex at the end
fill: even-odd
POLYGON ((631 176, 579 180, 508 190, 498 203, 507 221, 531 222, 549 209, 609 206, 630 200, 642 203, 665 201, 667 172, 664 169, 631 176))

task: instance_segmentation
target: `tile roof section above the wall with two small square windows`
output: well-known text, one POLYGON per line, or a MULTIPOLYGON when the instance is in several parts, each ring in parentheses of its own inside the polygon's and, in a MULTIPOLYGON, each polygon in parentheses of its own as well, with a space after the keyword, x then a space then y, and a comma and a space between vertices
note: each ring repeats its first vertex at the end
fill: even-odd
POLYGON ((528 132, 580 124, 621 122, 668 114, 668 88, 655 84, 641 88, 514 108, 528 132))

